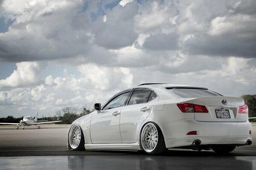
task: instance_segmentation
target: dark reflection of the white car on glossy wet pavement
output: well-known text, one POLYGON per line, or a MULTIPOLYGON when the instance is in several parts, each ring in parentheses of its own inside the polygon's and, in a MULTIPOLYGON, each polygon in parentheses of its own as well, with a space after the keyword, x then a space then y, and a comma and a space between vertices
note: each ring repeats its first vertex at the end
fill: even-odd
POLYGON ((242 156, 68 156, 68 169, 93 170, 255 170, 255 157, 242 156))

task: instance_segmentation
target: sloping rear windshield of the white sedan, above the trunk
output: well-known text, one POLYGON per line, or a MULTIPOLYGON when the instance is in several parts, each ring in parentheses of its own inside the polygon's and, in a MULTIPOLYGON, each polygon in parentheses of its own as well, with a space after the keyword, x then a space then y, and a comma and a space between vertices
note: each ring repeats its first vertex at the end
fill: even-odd
POLYGON ((213 91, 200 89, 200 88, 171 88, 168 89, 172 93, 177 94, 181 98, 194 98, 194 97, 206 97, 206 96, 221 96, 213 91))

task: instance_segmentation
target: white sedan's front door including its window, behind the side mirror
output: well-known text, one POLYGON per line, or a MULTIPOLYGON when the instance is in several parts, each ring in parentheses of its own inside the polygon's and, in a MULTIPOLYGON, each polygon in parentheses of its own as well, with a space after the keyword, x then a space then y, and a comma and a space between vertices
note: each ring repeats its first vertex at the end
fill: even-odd
POLYGON ((120 134, 120 113, 130 92, 113 97, 102 111, 92 115, 90 136, 92 143, 122 143, 120 134))

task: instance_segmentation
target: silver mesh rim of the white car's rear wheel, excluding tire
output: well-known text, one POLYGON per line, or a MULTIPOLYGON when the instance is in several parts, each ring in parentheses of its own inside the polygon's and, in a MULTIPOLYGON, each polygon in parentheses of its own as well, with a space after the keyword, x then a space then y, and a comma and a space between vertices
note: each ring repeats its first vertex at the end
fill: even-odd
POLYGON ((141 133, 141 145, 143 150, 151 153, 156 147, 158 142, 157 127, 153 123, 148 123, 143 127, 141 133))

